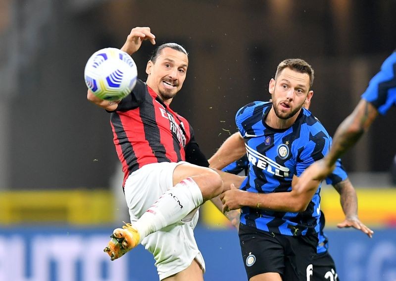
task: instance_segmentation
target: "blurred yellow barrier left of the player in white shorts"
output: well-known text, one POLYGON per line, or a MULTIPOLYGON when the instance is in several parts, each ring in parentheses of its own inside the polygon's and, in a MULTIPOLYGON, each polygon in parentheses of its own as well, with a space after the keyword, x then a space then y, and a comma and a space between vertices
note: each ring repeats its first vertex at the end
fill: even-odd
POLYGON ((113 210, 113 195, 104 190, 0 192, 0 224, 3 225, 112 223, 113 210))

